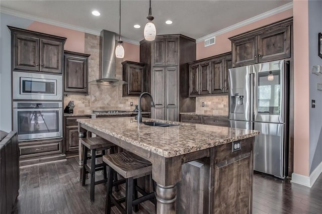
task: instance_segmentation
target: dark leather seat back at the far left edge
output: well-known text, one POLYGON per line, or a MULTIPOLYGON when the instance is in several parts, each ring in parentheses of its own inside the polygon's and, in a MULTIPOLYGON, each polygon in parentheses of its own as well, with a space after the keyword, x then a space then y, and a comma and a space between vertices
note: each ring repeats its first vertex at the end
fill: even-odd
POLYGON ((19 194, 19 175, 17 134, 10 132, 0 141, 0 213, 2 214, 12 213, 19 194))

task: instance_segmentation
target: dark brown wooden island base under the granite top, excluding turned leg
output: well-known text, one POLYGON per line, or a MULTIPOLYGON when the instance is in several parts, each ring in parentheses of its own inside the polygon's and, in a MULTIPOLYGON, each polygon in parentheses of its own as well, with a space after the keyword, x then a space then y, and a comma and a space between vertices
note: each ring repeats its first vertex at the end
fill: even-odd
POLYGON ((252 213, 254 137, 211 149, 209 158, 182 165, 178 213, 252 213))

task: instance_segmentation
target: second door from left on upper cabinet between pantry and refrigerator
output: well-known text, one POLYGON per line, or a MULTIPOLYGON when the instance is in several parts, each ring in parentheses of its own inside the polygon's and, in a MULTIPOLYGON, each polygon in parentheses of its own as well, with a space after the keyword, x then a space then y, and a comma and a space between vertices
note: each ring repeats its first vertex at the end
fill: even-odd
POLYGON ((210 94, 210 62, 199 65, 199 94, 210 94))

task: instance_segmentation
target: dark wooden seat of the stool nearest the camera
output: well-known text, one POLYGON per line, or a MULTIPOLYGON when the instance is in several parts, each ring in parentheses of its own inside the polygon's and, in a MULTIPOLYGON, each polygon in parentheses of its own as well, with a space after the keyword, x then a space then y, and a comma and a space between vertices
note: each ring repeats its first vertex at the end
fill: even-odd
POLYGON ((152 172, 152 164, 131 152, 103 156, 103 161, 124 178, 144 176, 152 172))

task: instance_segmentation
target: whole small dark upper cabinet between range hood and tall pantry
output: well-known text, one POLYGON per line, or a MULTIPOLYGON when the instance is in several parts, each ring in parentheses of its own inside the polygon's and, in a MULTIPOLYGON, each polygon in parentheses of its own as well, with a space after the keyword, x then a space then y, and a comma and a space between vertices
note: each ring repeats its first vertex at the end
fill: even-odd
POLYGON ((124 61, 123 81, 128 84, 123 85, 123 96, 139 96, 143 92, 143 75, 145 64, 139 62, 124 61))

